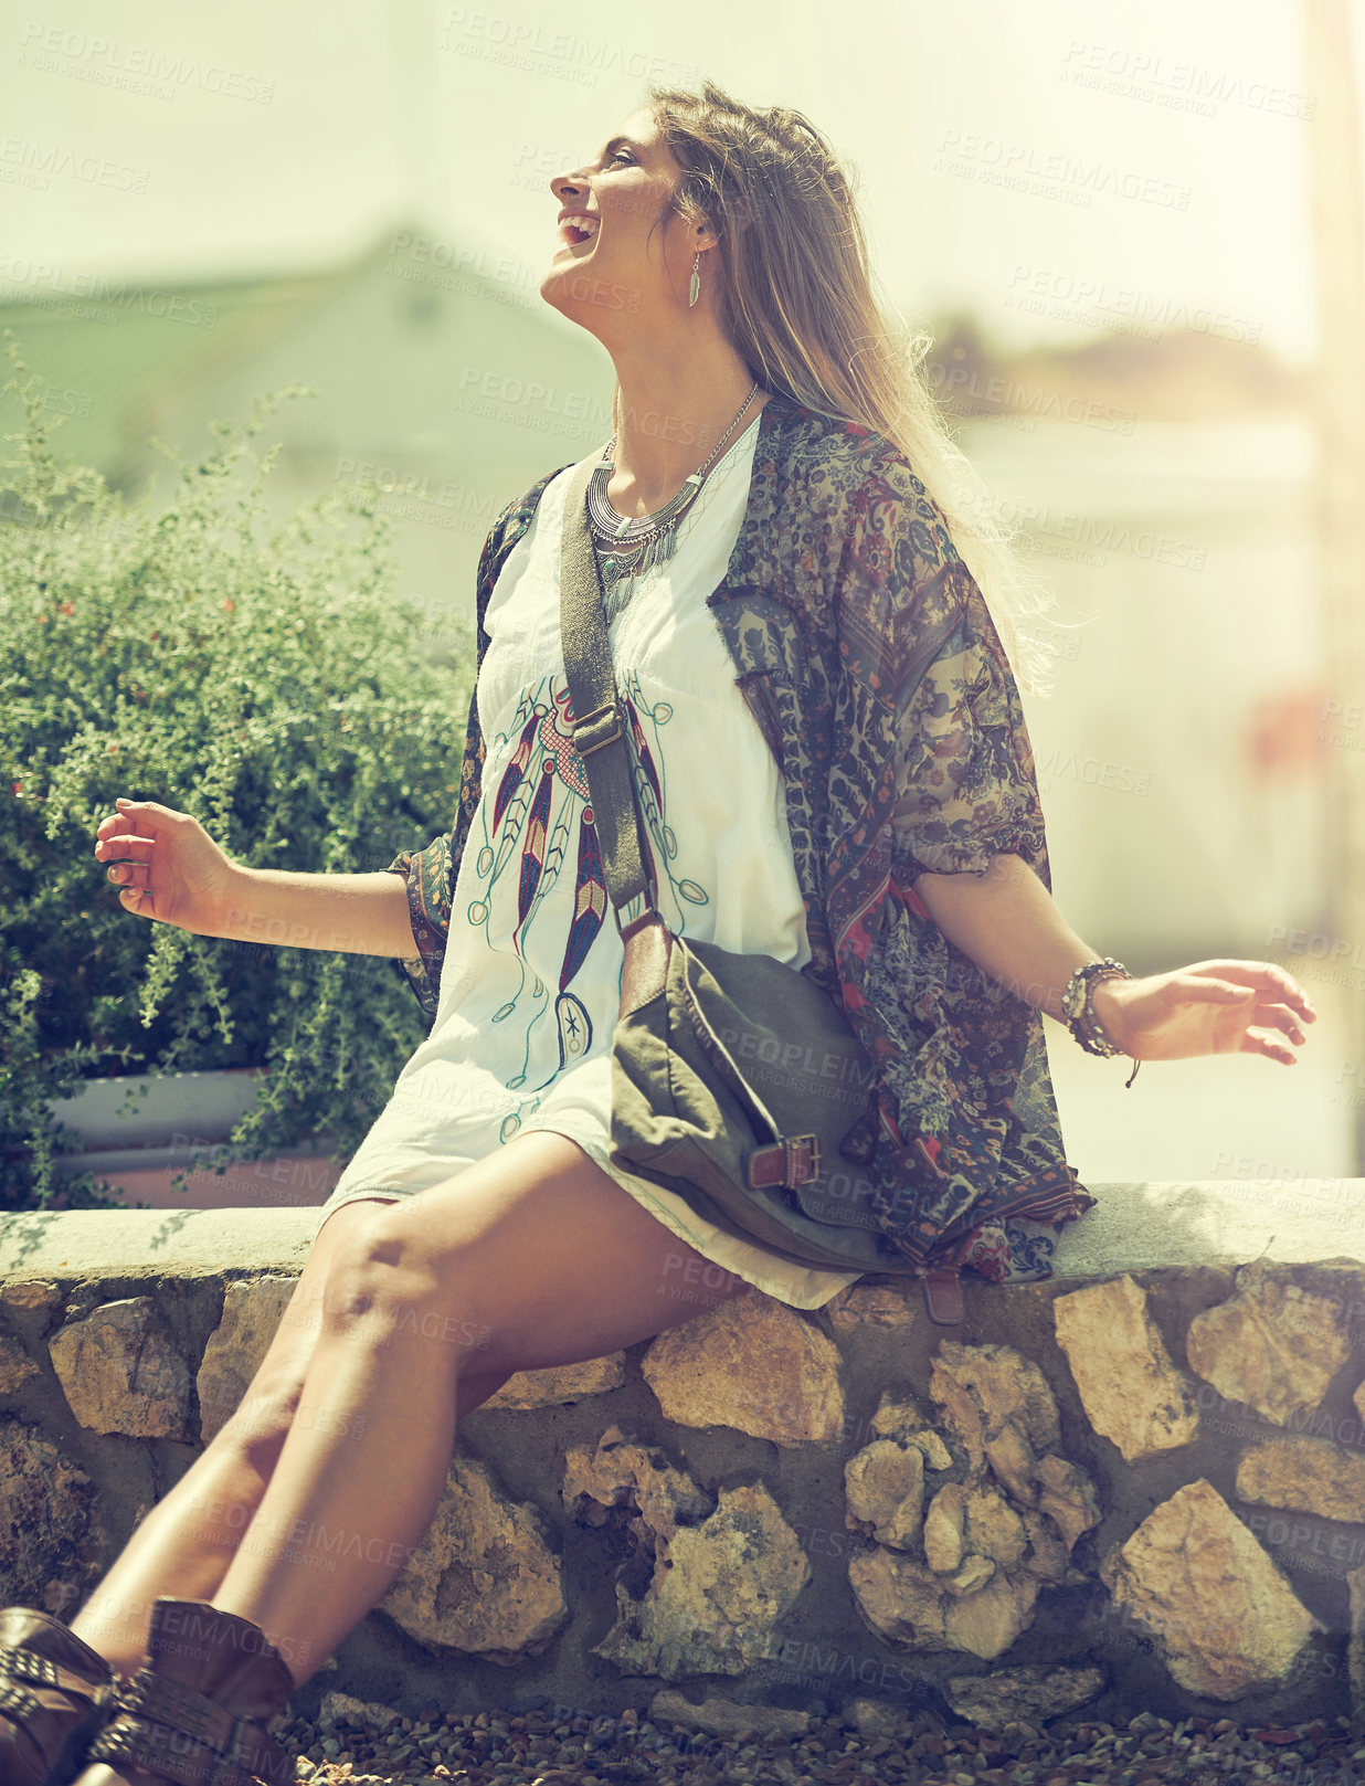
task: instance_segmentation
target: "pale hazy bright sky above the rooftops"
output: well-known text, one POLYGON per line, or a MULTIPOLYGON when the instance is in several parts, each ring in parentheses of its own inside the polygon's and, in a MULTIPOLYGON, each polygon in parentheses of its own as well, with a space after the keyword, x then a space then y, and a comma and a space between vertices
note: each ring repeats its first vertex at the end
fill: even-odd
POLYGON ((829 138, 911 320, 1024 346, 1188 314, 1311 357, 1302 0, 507 4, 20 0, 0 286, 331 266, 406 218, 538 277, 550 173, 709 77, 829 138))

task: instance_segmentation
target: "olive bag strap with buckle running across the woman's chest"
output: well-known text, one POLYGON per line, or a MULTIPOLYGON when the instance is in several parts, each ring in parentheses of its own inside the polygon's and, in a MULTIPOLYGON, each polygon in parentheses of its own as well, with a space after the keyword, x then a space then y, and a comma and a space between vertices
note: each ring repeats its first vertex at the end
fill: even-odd
POLYGON ((602 572, 588 532, 588 484, 599 464, 581 464, 565 493, 565 534, 559 552, 559 632, 565 680, 574 702, 574 748, 582 757, 593 825, 602 850, 616 931, 629 939, 659 916, 645 877, 640 800, 625 743, 627 713, 616 691, 611 639, 602 605, 602 572))

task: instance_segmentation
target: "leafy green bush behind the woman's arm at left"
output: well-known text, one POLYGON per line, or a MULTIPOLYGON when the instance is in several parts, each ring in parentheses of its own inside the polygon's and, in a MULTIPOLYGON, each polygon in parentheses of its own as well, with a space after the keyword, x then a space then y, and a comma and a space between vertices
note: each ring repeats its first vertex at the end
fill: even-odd
MULTIPOLYGON (((452 664, 391 593, 391 518, 325 491, 277 525, 279 445, 252 448, 289 386, 164 504, 59 463, 39 391, 0 461, 0 1209, 107 1207, 107 1181, 54 1175, 79 1152, 48 1111, 84 1077, 263 1066, 218 1156, 313 1136, 354 1152, 425 1032, 391 961, 191 936, 125 911, 95 859, 114 797, 193 813, 239 863, 386 868, 450 823, 473 663, 452 664)), ((59 421, 59 418, 57 418, 59 421)), ((186 1177, 177 1177, 184 1186, 186 1177)))

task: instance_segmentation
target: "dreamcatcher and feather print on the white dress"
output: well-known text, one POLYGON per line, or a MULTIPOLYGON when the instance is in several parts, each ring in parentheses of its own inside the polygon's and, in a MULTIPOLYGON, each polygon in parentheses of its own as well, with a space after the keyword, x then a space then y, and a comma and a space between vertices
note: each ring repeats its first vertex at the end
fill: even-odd
MULTIPOLYGON (((672 714, 672 704, 645 700, 636 679, 627 677, 627 689, 622 691, 622 704, 629 718, 632 741, 631 770, 636 780, 638 798, 645 814, 647 838, 643 839, 643 868, 650 889, 657 902, 656 855, 649 838, 665 857, 677 854, 677 839, 665 814, 665 786, 661 775, 659 732, 672 714), (632 691, 631 691, 632 689, 632 691), (654 748, 645 739, 640 714, 645 714, 652 727, 654 748)), ((534 984, 531 1000, 536 1009, 525 1023, 525 1045, 522 1052, 522 1070, 507 1079, 507 1089, 516 1091, 525 1086, 531 1072, 531 1047, 536 1023, 545 1016, 549 989, 534 970, 527 970, 522 943, 559 882, 563 863, 570 848, 570 836, 577 830, 577 859, 574 877, 572 916, 559 963, 559 986, 554 998, 556 1025, 556 1064, 554 1070, 527 1093, 525 1104, 509 1113, 500 1129, 500 1139, 507 1141, 522 1127, 529 1111, 540 1104, 541 1093, 566 1066, 574 1066, 588 1054, 593 1043, 593 1022, 584 1002, 570 989, 570 982, 582 966, 588 950, 607 918, 609 897, 606 873, 602 868, 602 850, 593 823, 593 809, 588 797, 588 775, 582 757, 574 748, 574 704, 563 679, 550 675, 541 679, 534 689, 525 689, 516 704, 511 729, 495 734, 490 741, 490 757, 500 757, 504 747, 516 738, 511 755, 491 786, 490 802, 481 802, 484 822, 484 843, 475 857, 475 877, 479 895, 466 907, 468 922, 484 932, 490 947, 488 923, 493 904, 493 888, 498 879, 516 872, 516 923, 511 931, 511 945, 522 964, 522 986, 493 1013, 493 1023, 506 1023, 522 1006, 527 972, 534 984), (556 797, 557 795, 557 797, 556 797), (520 850, 518 850, 520 845, 520 850)), ((708 904, 706 889, 695 880, 674 880, 670 886, 682 898, 693 904, 708 904)), ((675 929, 682 929, 681 923, 675 929)))

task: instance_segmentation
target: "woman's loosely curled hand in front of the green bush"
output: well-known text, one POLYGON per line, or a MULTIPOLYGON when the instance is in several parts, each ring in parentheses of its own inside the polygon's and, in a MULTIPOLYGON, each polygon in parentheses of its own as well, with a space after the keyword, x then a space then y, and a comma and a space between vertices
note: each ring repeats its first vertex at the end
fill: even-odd
POLYGON ((95 857, 111 864, 107 879, 123 911, 195 936, 223 936, 247 870, 189 813, 121 797, 114 805, 96 827, 95 857))

